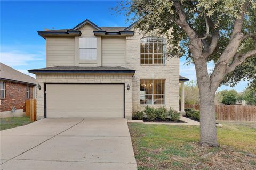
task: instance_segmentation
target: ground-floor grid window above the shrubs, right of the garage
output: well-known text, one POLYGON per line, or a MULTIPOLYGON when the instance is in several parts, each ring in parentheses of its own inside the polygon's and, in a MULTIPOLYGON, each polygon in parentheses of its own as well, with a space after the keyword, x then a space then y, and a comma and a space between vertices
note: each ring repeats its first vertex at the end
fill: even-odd
POLYGON ((164 105, 165 104, 165 80, 164 79, 140 79, 140 104, 164 105))

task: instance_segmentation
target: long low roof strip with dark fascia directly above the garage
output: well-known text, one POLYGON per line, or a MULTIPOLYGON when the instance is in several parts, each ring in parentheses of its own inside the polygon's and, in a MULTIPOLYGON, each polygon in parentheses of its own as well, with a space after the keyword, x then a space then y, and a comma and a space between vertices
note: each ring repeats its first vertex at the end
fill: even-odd
POLYGON ((28 70, 29 73, 135 73, 135 70, 124 67, 80 67, 80 66, 55 66, 42 69, 28 70))

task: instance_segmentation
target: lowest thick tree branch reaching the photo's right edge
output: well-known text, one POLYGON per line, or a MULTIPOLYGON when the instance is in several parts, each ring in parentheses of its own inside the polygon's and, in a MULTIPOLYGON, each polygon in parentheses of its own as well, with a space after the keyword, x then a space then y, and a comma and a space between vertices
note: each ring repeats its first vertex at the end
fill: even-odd
POLYGON ((233 72, 238 65, 243 63, 247 58, 256 55, 256 49, 251 50, 245 54, 236 54, 234 56, 233 62, 228 66, 227 73, 233 72))

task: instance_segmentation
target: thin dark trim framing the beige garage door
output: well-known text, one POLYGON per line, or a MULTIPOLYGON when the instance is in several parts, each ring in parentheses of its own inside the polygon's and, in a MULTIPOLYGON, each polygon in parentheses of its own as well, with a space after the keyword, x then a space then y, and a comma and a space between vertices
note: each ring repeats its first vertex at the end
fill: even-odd
MULTIPOLYGON (((124 86, 124 84, 125 83, 44 83, 44 118, 47 118, 47 106, 46 106, 46 95, 47 95, 47 90, 46 90, 46 85, 47 84, 91 84, 91 85, 93 85, 93 84, 99 84, 99 85, 104 85, 104 84, 106 84, 106 85, 123 85, 124 86)), ((123 105, 124 105, 124 117, 123 118, 125 118, 125 87, 124 87, 124 103, 123 103, 123 105)))

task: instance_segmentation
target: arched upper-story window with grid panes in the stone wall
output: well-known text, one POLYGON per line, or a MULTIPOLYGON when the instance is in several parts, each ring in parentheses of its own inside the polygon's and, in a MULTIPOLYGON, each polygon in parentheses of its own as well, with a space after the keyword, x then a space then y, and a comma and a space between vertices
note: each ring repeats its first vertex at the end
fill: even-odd
POLYGON ((140 43, 140 64, 165 64, 166 40, 145 37, 140 43))

